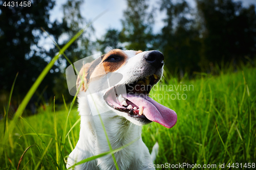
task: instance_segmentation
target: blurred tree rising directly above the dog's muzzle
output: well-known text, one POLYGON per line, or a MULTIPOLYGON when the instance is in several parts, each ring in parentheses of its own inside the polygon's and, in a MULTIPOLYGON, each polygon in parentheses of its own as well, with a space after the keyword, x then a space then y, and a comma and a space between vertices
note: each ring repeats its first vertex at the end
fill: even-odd
MULTIPOLYGON (((147 0, 127 0, 123 12, 120 41, 127 42, 127 50, 149 50, 152 48, 153 11, 148 12, 147 0)), ((154 9, 153 9, 154 10, 154 9)))

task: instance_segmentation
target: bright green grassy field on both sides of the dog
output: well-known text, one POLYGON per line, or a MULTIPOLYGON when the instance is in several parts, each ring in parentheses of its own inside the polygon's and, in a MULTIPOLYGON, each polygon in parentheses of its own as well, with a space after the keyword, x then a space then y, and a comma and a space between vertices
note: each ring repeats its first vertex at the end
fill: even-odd
MULTIPOLYGON (((172 164, 179 163, 200 164, 196 169, 220 169, 223 163, 222 169, 228 169, 228 163, 230 167, 238 163, 239 168, 233 164, 234 169, 245 169, 245 163, 247 168, 248 163, 256 163, 255 68, 244 66, 237 72, 220 71, 219 76, 200 74, 194 80, 185 76, 181 81, 170 78, 163 82, 151 96, 176 111, 177 124, 167 129, 151 123, 142 133, 150 151, 156 141, 160 145, 155 164, 170 164, 170 168, 159 169, 174 169, 172 164), (216 164, 216 168, 202 168, 204 164, 216 164)), ((74 104, 64 136, 70 133, 62 145, 68 112, 65 105, 54 112, 52 102, 37 115, 18 117, 15 124, 8 120, 5 136, 1 120, 0 169, 65 169, 64 160, 76 145, 80 123, 74 104)))

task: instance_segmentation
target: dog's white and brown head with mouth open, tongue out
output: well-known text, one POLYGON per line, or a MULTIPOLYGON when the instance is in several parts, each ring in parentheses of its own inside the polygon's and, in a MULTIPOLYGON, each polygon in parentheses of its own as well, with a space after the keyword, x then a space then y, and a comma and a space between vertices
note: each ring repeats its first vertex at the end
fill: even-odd
POLYGON ((175 111, 147 95, 163 75, 163 59, 159 51, 112 50, 83 65, 77 89, 83 96, 95 94, 98 108, 112 110, 136 125, 154 121, 172 128, 177 122, 175 111))

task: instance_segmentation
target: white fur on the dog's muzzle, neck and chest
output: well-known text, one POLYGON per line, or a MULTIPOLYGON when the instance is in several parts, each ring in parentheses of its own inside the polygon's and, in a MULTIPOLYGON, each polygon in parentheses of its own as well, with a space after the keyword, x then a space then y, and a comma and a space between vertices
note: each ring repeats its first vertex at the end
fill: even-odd
MULTIPOLYGON (((118 84, 124 84, 129 81, 135 81, 140 77, 143 77, 144 69, 141 64, 143 59, 143 53, 139 53, 135 56, 135 51, 124 51, 129 59, 127 59, 124 66, 116 70, 115 72, 121 73, 123 79, 118 84), (136 69, 131 69, 136 68, 136 69)), ((150 71, 150 70, 149 70, 150 71)), ((152 72, 159 77, 162 76, 162 70, 159 72, 152 72)), ((101 78, 102 83, 105 82, 105 77, 101 78)), ((90 85, 89 85, 90 88, 90 85)), ((108 138, 111 143, 112 149, 117 149, 123 145, 139 138, 128 147, 115 153, 115 158, 119 169, 154 169, 149 168, 148 164, 153 163, 152 157, 155 159, 158 151, 156 146, 153 149, 152 156, 148 151, 146 145, 141 138, 141 124, 128 116, 127 113, 119 112, 115 109, 110 109, 106 105, 103 95, 109 89, 100 91, 96 95, 95 101, 97 101, 97 107, 100 109, 110 110, 106 113, 100 114, 105 130, 108 133, 108 138), (139 126, 138 126, 139 125, 139 126)), ((88 92, 88 91, 87 91, 88 92)), ((89 105, 92 101, 88 101, 87 92, 80 92, 78 97, 78 111, 81 116, 80 134, 79 140, 75 149, 68 157, 67 168, 74 163, 79 162, 91 156, 98 155, 103 152, 109 151, 109 145, 106 141, 106 137, 100 122, 99 115, 92 116, 89 105)), ((158 144, 157 144, 158 145, 158 144)), ((116 169, 113 158, 111 155, 103 156, 95 160, 75 166, 74 169, 116 169)))

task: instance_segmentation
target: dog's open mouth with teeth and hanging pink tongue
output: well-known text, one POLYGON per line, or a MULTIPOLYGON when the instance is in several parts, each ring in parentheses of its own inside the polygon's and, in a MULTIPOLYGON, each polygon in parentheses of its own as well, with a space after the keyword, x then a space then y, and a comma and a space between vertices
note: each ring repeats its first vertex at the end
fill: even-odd
POLYGON ((148 96, 158 80, 157 75, 151 75, 129 84, 116 86, 104 95, 106 104, 118 111, 126 112, 144 124, 154 121, 166 128, 172 128, 177 122, 175 111, 148 96), (120 89, 125 89, 126 92, 120 89))

